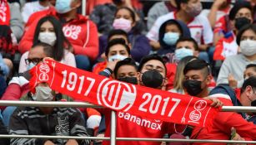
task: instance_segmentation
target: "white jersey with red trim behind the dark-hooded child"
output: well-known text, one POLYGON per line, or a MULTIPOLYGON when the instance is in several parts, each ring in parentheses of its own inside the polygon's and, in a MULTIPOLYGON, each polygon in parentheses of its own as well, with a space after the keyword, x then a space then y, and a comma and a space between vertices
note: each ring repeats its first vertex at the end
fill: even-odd
MULTIPOLYGON (((164 22, 171 19, 177 19, 176 12, 169 12, 166 15, 158 17, 157 21, 153 24, 153 27, 148 31, 148 39, 151 41, 158 41, 159 28, 164 22)), ((191 36, 198 42, 198 45, 213 43, 213 30, 207 17, 200 14, 197 17, 194 17, 193 21, 189 22, 187 25, 191 36)))

